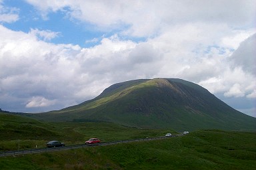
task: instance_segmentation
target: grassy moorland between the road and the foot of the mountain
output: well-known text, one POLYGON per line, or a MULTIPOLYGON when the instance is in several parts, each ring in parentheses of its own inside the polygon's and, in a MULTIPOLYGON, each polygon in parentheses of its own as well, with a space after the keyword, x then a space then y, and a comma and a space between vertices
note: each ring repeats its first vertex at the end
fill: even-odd
POLYGON ((107 122, 43 123, 31 118, 0 113, 0 151, 45 147, 50 140, 61 140, 66 145, 85 143, 91 137, 101 141, 158 137, 171 129, 138 129, 107 122))

